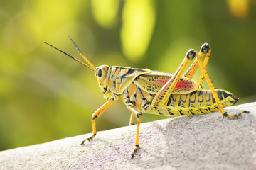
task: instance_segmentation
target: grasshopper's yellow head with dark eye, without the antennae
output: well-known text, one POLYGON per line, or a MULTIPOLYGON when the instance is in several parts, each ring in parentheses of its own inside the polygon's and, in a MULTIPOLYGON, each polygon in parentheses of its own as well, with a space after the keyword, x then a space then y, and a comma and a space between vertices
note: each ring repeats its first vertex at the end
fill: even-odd
POLYGON ((107 65, 102 65, 99 67, 96 67, 97 72, 95 72, 95 75, 97 77, 97 81, 99 83, 100 89, 103 94, 107 91, 107 73, 109 71, 109 67, 107 65))

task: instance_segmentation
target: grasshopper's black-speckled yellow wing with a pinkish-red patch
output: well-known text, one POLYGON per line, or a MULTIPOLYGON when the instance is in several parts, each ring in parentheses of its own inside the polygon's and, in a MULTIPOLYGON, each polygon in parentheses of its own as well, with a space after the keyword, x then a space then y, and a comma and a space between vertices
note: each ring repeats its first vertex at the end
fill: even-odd
MULTIPOLYGON (((134 80, 134 84, 150 94, 157 92, 166 84, 173 74, 167 72, 151 71, 149 74, 142 74, 134 80)), ((193 79, 181 77, 172 94, 188 94, 199 88, 198 83, 193 79)))

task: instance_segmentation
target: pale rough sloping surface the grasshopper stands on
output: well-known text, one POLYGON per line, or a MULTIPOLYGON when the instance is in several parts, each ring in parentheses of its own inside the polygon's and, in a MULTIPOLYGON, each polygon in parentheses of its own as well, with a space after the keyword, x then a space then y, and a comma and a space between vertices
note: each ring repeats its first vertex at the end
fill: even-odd
POLYGON ((226 108, 242 110, 142 123, 134 159, 136 125, 2 151, 0 169, 256 169, 256 103, 226 108))

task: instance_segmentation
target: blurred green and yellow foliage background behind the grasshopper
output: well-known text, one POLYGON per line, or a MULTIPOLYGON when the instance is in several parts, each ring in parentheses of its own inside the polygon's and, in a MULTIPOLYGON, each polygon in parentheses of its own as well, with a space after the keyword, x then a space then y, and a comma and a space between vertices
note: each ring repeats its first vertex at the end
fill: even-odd
MULTIPOLYGON (((80 58, 67 35, 95 66, 164 72, 209 42, 213 84, 239 103, 256 101, 255 9, 250 0, 1 1, 0 150, 92 132, 92 113, 106 102, 95 75, 43 44, 80 58)), ((128 125, 129 116, 117 101, 97 130, 128 125)), ((160 118, 144 114, 142 121, 160 118)))

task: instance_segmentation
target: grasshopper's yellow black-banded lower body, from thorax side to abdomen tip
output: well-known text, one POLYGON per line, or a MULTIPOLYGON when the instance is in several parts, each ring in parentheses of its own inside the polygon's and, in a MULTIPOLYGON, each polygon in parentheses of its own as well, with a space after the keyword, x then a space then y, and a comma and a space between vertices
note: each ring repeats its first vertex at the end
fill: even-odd
MULTIPOLYGON (((232 106, 238 101, 228 91, 216 89, 218 98, 223 107, 232 106)), ((198 90, 190 94, 171 94, 166 104, 161 108, 151 106, 155 94, 146 93, 131 84, 122 94, 123 101, 127 106, 132 106, 142 113, 154 113, 158 115, 199 115, 218 111, 218 105, 210 90, 198 90)))

